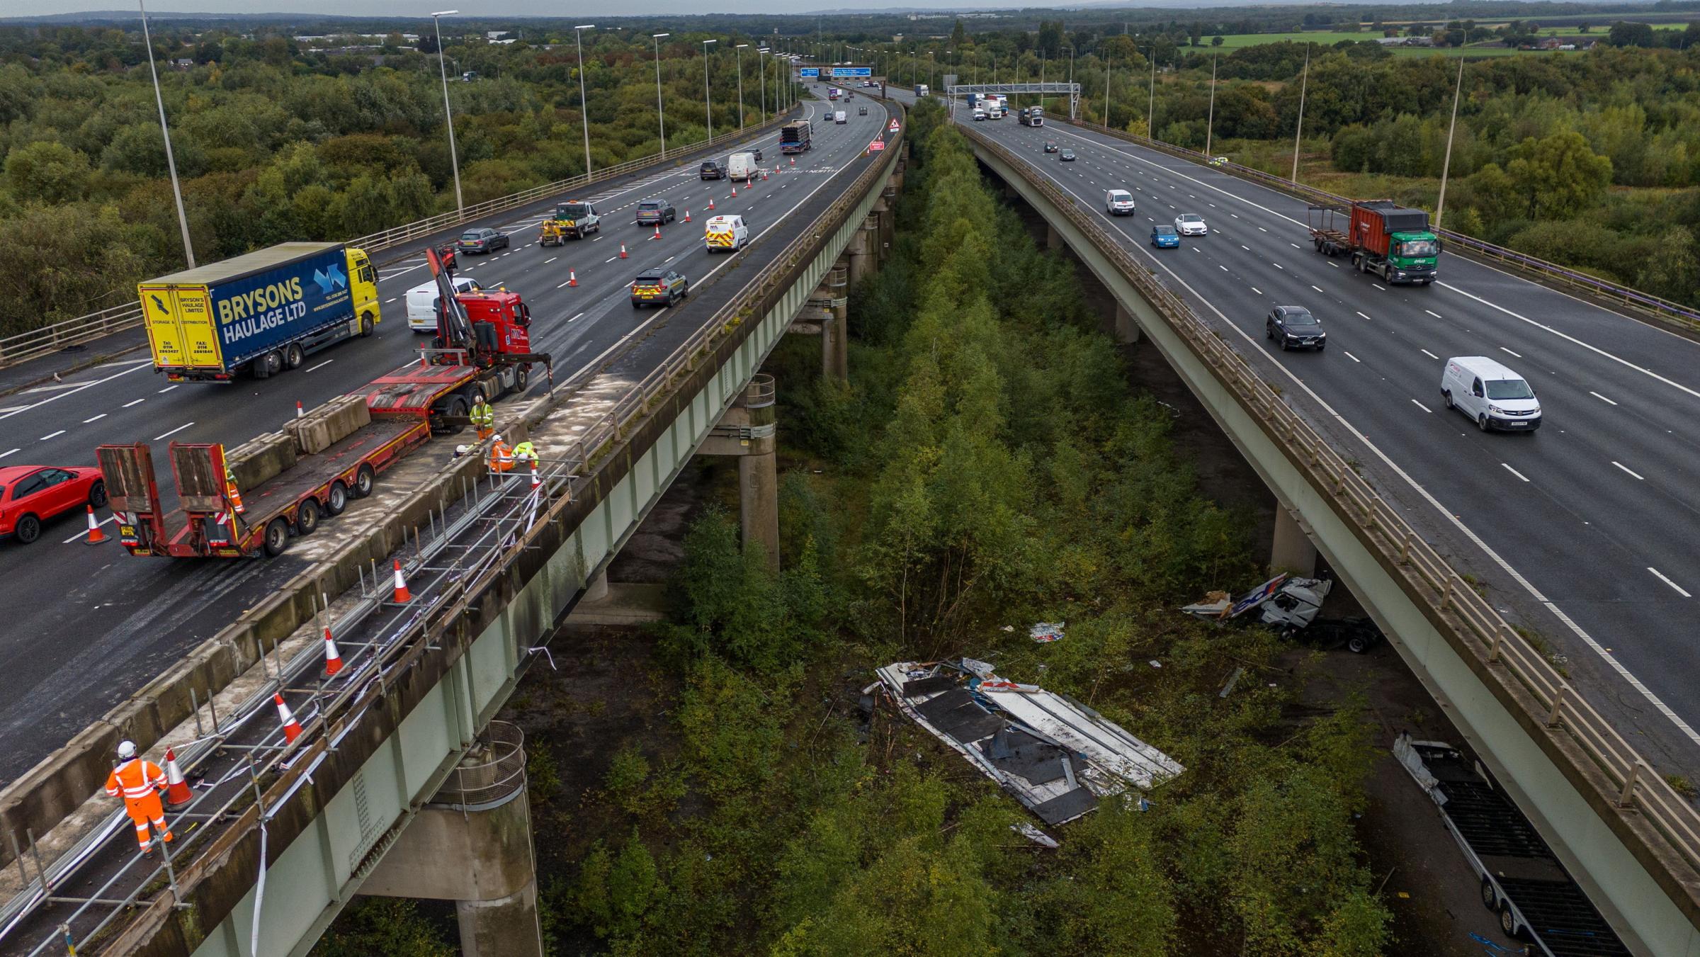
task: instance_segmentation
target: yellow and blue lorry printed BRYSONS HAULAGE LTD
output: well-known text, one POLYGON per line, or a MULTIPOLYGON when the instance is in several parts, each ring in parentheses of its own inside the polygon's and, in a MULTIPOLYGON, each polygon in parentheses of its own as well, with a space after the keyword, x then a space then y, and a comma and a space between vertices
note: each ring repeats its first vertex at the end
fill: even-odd
POLYGON ((296 369, 377 326, 377 272, 343 243, 279 243, 138 286, 153 371, 230 382, 296 369))

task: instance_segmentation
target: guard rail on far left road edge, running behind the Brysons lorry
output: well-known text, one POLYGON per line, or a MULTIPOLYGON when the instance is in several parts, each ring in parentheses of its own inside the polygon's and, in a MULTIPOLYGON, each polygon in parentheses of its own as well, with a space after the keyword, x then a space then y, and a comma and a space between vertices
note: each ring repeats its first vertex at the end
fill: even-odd
MULTIPOLYGON (((704 148, 717 150, 721 146, 738 143, 740 139, 750 136, 751 133, 762 133, 765 129, 772 129, 787 119, 790 119, 789 112, 763 122, 753 122, 734 133, 722 133, 721 136, 716 136, 714 139, 709 139, 706 143, 692 143, 688 146, 680 146, 678 150, 673 151, 673 156, 688 156, 704 148)), ((473 219, 490 216, 493 212, 507 212, 508 209, 536 202, 537 199, 542 199, 546 195, 554 195, 573 189, 583 189, 665 161, 666 158, 661 155, 641 156, 638 160, 626 160, 624 163, 604 167, 592 175, 578 175, 564 180, 556 180, 552 184, 537 185, 503 197, 486 199, 484 202, 474 202, 473 206, 468 206, 464 211, 439 212, 437 216, 415 219, 413 223, 406 223, 403 226, 381 229, 377 233, 348 240, 348 245, 366 250, 369 253, 394 248, 400 245, 411 243, 422 236, 439 233, 449 226, 459 226, 461 223, 469 223, 473 219)), ((27 359, 37 359, 51 352, 60 352, 61 348, 82 345, 85 342, 94 342, 104 335, 131 330, 139 325, 141 325, 141 304, 124 303, 122 306, 112 306, 107 309, 100 309, 99 313, 76 316, 75 320, 63 320, 53 325, 41 326, 37 330, 14 333, 5 338, 0 338, 0 367, 14 365, 27 359)))

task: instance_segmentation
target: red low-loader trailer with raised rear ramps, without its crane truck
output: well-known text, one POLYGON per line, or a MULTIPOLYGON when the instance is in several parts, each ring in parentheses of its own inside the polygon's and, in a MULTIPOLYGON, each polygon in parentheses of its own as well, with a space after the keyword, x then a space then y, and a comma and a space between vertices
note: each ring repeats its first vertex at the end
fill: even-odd
POLYGON ((372 418, 321 452, 235 493, 219 444, 172 442, 175 512, 160 501, 153 450, 146 442, 100 445, 95 461, 119 517, 119 542, 146 558, 277 556, 291 535, 313 534, 321 518, 371 495, 381 473, 430 439, 423 415, 372 418), (240 508, 238 508, 240 501, 240 508))

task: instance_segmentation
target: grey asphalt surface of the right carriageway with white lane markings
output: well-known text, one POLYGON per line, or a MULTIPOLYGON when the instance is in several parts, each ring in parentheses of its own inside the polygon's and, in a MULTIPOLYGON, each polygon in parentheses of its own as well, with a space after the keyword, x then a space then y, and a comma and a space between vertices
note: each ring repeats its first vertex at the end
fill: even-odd
POLYGON ((1319 255, 1306 204, 1285 194, 1069 126, 974 129, 1122 233, 1205 321, 1232 330, 1239 352, 1460 573, 1567 658, 1571 680, 1630 743, 1661 772, 1700 780, 1700 345, 1457 255, 1442 257, 1430 287, 1389 287, 1319 255), (1078 160, 1046 155, 1046 139, 1078 160), (1103 190, 1117 187, 1134 192, 1137 214, 1105 212, 1103 190), (1210 235, 1153 248, 1151 226, 1182 212, 1204 216, 1210 235), (1328 350, 1277 350, 1263 335, 1277 304, 1318 314, 1328 350), (1481 433, 1447 410, 1440 372, 1452 355, 1528 377, 1540 432, 1481 433))

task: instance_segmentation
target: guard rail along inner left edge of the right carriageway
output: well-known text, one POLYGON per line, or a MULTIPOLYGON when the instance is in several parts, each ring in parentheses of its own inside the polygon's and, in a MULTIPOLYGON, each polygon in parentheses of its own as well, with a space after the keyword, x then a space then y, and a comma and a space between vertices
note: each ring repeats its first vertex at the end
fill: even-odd
MULTIPOLYGON (((1389 568, 1408 569, 1404 575, 1408 580, 1414 573, 1414 583, 1420 588, 1413 592, 1426 592, 1430 620, 1448 622, 1460 637, 1472 637, 1472 648, 1481 663, 1504 668, 1504 673, 1535 699, 1540 707, 1530 716, 1535 722, 1552 733, 1561 729, 1569 733, 1571 741, 1605 775, 1606 782, 1600 782, 1596 775, 1588 775, 1586 768, 1579 768, 1584 777, 1593 779, 1596 787, 1610 785, 1601 787, 1601 796, 1610 806, 1639 809, 1673 852, 1681 855, 1692 869, 1700 869, 1700 813, 1678 796, 1669 782, 1652 772, 1635 748, 1581 694, 1566 683, 1550 661, 1499 617, 1499 612, 1477 595, 1447 564, 1447 559, 1404 522, 1397 510, 1389 507, 1307 422, 1282 401, 1280 393, 1270 388, 1244 357, 1229 348, 1221 333, 1159 282, 1151 269, 1134 260, 1132 253, 1081 212, 1071 195, 1034 173, 1025 160, 984 134, 972 127, 959 129, 964 129, 978 148, 998 155, 1028 184, 1047 194, 1056 207, 1093 241, 1096 250, 1122 269, 1192 348, 1210 362, 1244 408, 1258 416, 1272 435, 1287 442, 1297 464, 1319 479, 1316 488, 1333 496, 1341 517, 1358 525, 1362 537, 1380 551, 1389 568)), ((1673 877, 1685 886, 1693 886, 1695 881, 1693 875, 1673 877)))

